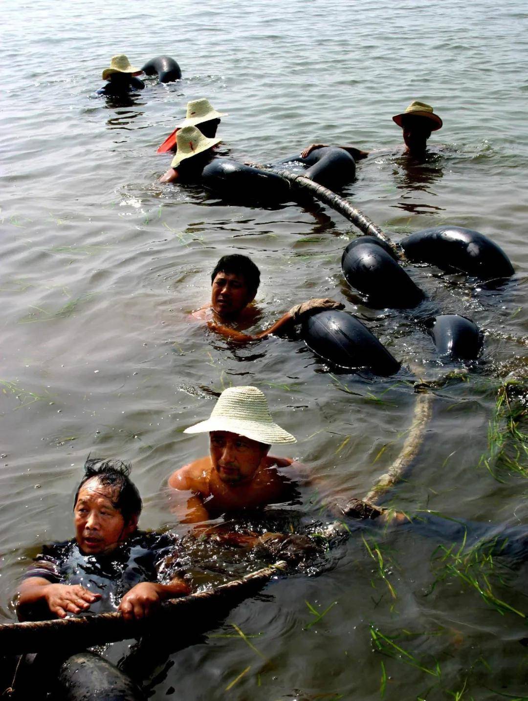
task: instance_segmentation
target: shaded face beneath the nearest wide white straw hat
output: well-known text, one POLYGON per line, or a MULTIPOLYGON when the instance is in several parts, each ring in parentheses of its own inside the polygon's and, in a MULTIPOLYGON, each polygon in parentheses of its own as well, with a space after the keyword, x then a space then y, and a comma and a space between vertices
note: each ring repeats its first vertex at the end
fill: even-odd
POLYGON ((213 470, 226 484, 248 484, 255 477, 269 446, 229 431, 211 431, 210 451, 213 470))

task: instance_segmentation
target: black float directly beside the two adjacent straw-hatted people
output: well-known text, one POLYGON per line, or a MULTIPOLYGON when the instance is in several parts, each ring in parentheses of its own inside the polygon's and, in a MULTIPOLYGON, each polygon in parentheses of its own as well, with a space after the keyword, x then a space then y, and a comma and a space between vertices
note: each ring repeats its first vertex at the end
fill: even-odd
POLYGON ((290 183, 269 170, 231 158, 213 158, 202 171, 203 185, 229 200, 277 203, 292 199, 290 183))

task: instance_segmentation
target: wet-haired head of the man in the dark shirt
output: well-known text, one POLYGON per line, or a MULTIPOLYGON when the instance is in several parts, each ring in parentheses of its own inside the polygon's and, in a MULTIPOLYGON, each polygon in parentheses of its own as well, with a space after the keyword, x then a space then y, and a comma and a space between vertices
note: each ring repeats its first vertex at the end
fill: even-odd
POLYGON ((130 465, 121 461, 86 461, 74 498, 75 537, 81 552, 111 552, 137 529, 142 501, 129 474, 130 465))

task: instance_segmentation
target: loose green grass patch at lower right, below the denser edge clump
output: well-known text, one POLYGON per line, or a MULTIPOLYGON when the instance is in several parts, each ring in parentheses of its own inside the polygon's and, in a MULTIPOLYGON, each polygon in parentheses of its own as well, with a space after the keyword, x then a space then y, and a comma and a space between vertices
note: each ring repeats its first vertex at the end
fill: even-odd
POLYGON ((494 608, 497 613, 501 615, 513 613, 520 618, 527 618, 526 613, 499 599, 494 592, 496 584, 508 585, 506 575, 511 569, 502 562, 496 562, 495 559, 506 545, 506 540, 497 537, 487 543, 466 549, 466 536, 467 531, 458 549, 455 549, 455 543, 450 547, 438 545, 435 549, 432 564, 436 578, 428 593, 431 594, 438 583, 455 578, 478 592, 486 604, 494 608))

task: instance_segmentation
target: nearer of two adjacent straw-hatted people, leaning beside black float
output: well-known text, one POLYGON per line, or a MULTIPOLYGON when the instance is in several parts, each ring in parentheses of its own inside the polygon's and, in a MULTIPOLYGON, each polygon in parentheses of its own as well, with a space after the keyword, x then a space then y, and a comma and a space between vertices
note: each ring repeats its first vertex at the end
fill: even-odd
POLYGON ((205 165, 214 158, 212 148, 221 139, 210 139, 194 126, 183 127, 176 132, 176 155, 170 168, 159 182, 198 182, 205 165))

